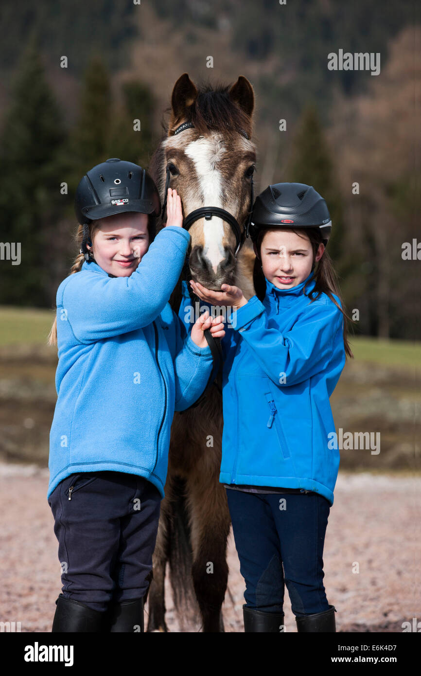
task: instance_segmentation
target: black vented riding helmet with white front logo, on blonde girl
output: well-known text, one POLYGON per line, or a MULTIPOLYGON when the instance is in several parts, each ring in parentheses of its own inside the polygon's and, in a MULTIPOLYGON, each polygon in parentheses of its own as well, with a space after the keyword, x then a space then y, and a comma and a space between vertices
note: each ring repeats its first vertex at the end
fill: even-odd
POLYGON ((76 189, 74 210, 83 225, 81 254, 88 256, 89 224, 120 212, 150 214, 151 239, 155 218, 161 212, 159 193, 151 176, 139 164, 110 158, 83 176, 76 189))

